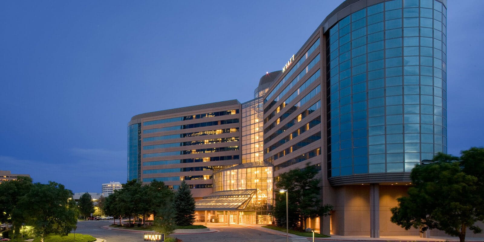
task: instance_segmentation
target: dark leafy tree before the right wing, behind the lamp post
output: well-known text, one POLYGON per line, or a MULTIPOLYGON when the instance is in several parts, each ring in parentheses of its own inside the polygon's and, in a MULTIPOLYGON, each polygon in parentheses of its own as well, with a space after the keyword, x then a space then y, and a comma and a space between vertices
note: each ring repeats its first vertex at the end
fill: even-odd
POLYGON ((289 202, 288 225, 289 227, 307 227, 308 218, 329 215, 333 208, 331 205, 321 205, 319 198, 320 192, 318 184, 320 179, 316 179, 318 170, 314 166, 306 165, 302 169, 294 169, 279 176, 276 186, 286 189, 288 193, 277 194, 274 207, 274 217, 279 226, 286 226, 286 197, 289 202), (298 226, 299 225, 299 226, 298 226))

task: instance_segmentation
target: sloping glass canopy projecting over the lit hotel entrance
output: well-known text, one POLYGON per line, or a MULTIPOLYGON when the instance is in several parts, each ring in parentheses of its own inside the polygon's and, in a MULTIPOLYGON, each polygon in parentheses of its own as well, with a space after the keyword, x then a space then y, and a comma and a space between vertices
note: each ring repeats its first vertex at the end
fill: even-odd
POLYGON ((237 211, 245 209, 257 189, 220 191, 209 194, 195 203, 196 211, 237 211))

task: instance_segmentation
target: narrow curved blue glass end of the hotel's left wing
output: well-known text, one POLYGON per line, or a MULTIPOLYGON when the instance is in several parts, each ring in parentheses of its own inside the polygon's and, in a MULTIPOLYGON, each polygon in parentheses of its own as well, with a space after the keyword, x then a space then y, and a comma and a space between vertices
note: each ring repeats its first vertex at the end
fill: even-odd
POLYGON ((141 178, 141 123, 128 127, 128 181, 141 178))

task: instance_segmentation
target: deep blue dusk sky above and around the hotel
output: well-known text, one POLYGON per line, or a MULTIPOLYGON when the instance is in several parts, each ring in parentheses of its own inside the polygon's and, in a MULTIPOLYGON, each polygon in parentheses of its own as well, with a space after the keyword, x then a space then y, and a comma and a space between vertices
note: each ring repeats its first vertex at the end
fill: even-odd
MULTIPOLYGON (((101 192, 127 123, 253 98, 343 0, 0 1, 0 170, 101 192)), ((449 0, 448 152, 483 146, 484 1, 449 0)))

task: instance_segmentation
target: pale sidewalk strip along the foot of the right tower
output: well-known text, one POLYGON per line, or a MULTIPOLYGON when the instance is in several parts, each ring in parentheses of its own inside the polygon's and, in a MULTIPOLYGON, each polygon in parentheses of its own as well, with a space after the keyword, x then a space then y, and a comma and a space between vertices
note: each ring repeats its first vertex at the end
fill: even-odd
MULTIPOLYGON (((281 232, 278 230, 273 230, 270 228, 262 227, 264 225, 245 225, 245 227, 254 228, 260 231, 278 234, 281 236, 286 236, 286 232, 281 232)), ((291 238, 305 238, 311 239, 310 237, 303 237, 295 234, 289 234, 291 238)), ((459 242, 458 237, 446 237, 446 236, 432 236, 430 238, 420 238, 419 236, 380 236, 380 238, 370 238, 369 236, 341 236, 341 235, 334 235, 332 234, 329 238, 314 238, 318 241, 359 241, 359 242, 375 242, 375 241, 384 241, 384 242, 459 242)), ((484 242, 484 238, 479 237, 466 237, 466 242, 484 242)))

